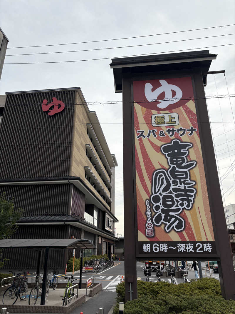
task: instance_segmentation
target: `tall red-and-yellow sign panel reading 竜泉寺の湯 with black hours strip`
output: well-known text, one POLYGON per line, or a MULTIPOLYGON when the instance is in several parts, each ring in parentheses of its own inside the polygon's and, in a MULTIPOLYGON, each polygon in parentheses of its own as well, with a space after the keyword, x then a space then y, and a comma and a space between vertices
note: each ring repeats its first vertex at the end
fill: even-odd
POLYGON ((133 81, 137 254, 216 254, 191 77, 133 81))

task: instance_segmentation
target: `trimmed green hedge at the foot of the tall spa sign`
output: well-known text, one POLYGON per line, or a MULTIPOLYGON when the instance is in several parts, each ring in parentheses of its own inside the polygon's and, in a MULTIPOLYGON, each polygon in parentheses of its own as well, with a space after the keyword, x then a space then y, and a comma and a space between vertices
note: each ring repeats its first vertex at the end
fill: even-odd
MULTIPOLYGON (((220 283, 203 278, 188 284, 137 281, 138 299, 124 305, 125 314, 234 314, 235 301, 224 300, 220 283)), ((124 283, 116 287, 117 302, 124 302, 124 283)), ((113 314, 118 314, 118 303, 113 314)))

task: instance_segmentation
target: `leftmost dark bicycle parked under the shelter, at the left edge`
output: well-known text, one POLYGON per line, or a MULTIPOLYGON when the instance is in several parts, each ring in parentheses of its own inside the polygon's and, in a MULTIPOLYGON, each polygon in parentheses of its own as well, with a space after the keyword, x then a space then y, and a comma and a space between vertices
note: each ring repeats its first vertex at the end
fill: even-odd
POLYGON ((15 278, 13 279, 12 285, 4 292, 3 294, 3 304, 5 305, 13 305, 20 297, 20 300, 24 300, 26 298, 28 292, 28 282, 27 277, 24 275, 21 277, 21 273, 18 273, 17 276, 15 272, 11 272, 14 274, 15 278))

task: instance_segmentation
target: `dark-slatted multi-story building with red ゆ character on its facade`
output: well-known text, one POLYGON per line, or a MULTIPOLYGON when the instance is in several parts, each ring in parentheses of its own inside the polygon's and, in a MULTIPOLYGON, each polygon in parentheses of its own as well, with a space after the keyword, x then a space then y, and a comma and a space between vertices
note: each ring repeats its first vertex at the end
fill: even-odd
MULTIPOLYGON (((97 249, 85 256, 110 255, 118 164, 81 89, 10 92, 0 106, 0 194, 24 210, 13 238, 86 239, 97 249)), ((37 263, 34 250, 4 250, 3 257, 8 268, 37 263)), ((72 250, 52 250, 49 267, 64 268, 70 257, 72 250)))

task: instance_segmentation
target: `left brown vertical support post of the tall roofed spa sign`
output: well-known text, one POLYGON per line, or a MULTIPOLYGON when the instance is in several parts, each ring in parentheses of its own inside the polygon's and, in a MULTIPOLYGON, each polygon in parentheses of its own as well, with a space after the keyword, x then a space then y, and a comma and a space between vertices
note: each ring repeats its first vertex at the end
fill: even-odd
POLYGON ((135 204, 133 186, 133 158, 134 158, 134 135, 133 135, 133 106, 131 93, 130 73, 123 74, 123 190, 124 190, 124 233, 125 233, 125 302, 130 300, 129 283, 131 282, 132 300, 137 299, 137 270, 136 270, 136 247, 135 229, 135 204), (130 280, 128 280, 130 279, 130 280))

